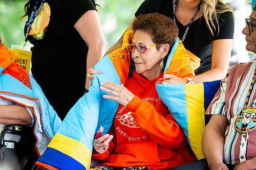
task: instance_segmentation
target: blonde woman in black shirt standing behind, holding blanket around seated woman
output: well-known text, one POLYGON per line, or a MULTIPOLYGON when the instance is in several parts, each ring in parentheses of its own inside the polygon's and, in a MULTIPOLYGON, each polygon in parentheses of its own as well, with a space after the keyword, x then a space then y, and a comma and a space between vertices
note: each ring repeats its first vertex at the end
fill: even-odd
MULTIPOLYGON (((183 41, 186 50, 201 59, 196 76, 191 78, 195 83, 225 77, 234 32, 233 12, 227 5, 221 0, 145 0, 135 13, 133 21, 139 14, 153 12, 175 19, 179 38, 182 40, 186 35, 183 41)), ((126 31, 129 30, 131 25, 126 31)), ((107 53, 120 47, 121 42, 122 37, 107 53)), ((88 72, 97 73, 93 69, 88 72)), ((87 77, 92 78, 89 74, 87 77)), ((164 75, 164 78, 168 78, 167 82, 172 84, 188 82, 187 79, 173 75, 164 75)))

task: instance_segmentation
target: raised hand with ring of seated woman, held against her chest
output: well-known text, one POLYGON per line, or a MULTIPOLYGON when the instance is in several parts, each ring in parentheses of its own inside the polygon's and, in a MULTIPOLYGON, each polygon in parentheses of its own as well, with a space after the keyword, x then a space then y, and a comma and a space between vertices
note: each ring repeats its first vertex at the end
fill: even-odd
POLYGON ((128 90, 126 87, 116 83, 108 82, 100 83, 100 89, 105 91, 111 95, 103 95, 104 99, 110 99, 113 101, 117 101, 119 104, 123 106, 127 106, 131 100, 134 98, 134 94, 128 90))

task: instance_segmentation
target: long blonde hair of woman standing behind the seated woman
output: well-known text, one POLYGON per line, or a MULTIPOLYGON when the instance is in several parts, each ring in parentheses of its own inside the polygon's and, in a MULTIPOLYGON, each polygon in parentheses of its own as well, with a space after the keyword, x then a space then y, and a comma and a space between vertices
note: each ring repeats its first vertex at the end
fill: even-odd
POLYGON ((203 0, 201 7, 201 15, 205 18, 206 24, 210 30, 211 35, 214 37, 214 31, 220 31, 218 16, 224 12, 231 12, 234 17, 233 10, 228 7, 221 0, 203 0), (217 26, 214 23, 216 20, 217 26))

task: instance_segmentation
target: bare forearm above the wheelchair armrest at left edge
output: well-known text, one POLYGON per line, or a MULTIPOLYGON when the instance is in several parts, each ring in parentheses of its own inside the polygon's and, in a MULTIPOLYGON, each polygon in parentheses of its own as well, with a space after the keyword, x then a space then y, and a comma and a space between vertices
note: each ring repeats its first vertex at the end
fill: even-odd
POLYGON ((24 106, 0 105, 0 123, 4 125, 31 125, 32 119, 24 106))

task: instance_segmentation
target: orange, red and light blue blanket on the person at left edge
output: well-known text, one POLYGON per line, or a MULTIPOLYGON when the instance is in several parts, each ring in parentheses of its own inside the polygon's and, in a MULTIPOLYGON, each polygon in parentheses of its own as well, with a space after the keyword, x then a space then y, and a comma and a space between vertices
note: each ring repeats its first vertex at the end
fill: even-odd
POLYGON ((45 152, 61 123, 40 86, 16 61, 18 54, 5 44, 0 47, 0 98, 33 108, 35 148, 38 156, 45 152))

